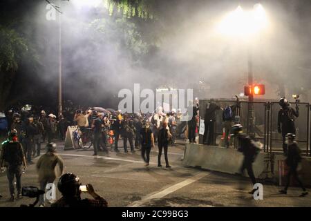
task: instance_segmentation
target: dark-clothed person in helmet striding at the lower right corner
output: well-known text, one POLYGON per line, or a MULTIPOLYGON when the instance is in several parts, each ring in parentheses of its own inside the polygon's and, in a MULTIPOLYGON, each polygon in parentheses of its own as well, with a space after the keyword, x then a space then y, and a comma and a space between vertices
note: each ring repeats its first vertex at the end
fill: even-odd
POLYGON ((303 186, 303 183, 301 180, 299 180, 299 176, 297 173, 297 167, 299 162, 301 162, 301 151, 299 149, 299 146, 295 142, 296 135, 293 133, 288 133, 286 135, 288 140, 288 157, 286 158, 285 162, 290 168, 288 171, 288 180, 286 182, 285 188, 279 191, 279 193, 287 194, 288 193, 288 186, 290 186, 290 178, 294 177, 296 182, 298 182, 301 189, 303 189, 303 193, 301 193, 301 197, 308 194, 308 191, 305 189, 305 186, 303 186))

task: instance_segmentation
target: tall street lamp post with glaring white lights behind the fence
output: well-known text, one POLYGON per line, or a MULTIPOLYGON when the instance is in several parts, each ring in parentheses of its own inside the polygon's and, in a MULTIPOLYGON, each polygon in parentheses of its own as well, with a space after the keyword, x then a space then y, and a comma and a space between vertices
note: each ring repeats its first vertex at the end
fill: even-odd
MULTIPOLYGON (((246 41, 251 41, 252 35, 260 32, 267 25, 267 17, 265 10, 261 4, 254 5, 254 9, 244 12, 241 6, 236 10, 230 12, 227 17, 223 19, 218 27, 220 32, 225 35, 247 38, 246 41)), ((249 86, 254 84, 254 75, 252 70, 252 47, 247 43, 247 83, 249 86)), ((248 97, 248 118, 247 118, 247 132, 254 136, 254 93, 250 93, 248 97)))

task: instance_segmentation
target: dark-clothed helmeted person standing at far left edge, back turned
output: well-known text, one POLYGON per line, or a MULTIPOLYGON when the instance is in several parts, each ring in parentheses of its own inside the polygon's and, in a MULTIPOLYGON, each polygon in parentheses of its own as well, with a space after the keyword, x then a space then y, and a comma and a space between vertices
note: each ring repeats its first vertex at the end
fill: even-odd
POLYGON ((23 147, 18 141, 17 131, 15 129, 8 133, 8 140, 2 143, 2 149, 0 153, 0 168, 4 166, 6 162, 7 176, 10 189, 10 201, 15 200, 15 188, 14 188, 14 177, 16 178, 17 187, 17 198, 21 197, 21 164, 23 169, 26 170, 26 158, 23 154, 23 147))

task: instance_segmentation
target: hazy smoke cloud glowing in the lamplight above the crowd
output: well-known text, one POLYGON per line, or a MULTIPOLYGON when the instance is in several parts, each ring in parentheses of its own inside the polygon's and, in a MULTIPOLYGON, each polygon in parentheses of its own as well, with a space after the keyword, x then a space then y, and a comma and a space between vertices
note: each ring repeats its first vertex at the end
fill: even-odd
MULTIPOLYGON (((250 55, 254 82, 266 84, 265 98, 277 98, 277 90, 285 86, 288 93, 303 93, 311 102, 310 1, 261 1, 268 26, 247 37, 225 36, 217 27, 238 3, 243 10, 252 10, 257 1, 158 1, 155 19, 119 22, 117 12, 109 16, 104 4, 95 3, 96 8, 62 1, 64 99, 115 107, 120 100, 117 92, 133 90, 135 83, 153 90, 194 88, 199 98, 233 97, 247 84, 250 55), (131 39, 124 37, 124 31, 133 23, 142 42, 129 50, 131 39), (154 37, 157 44, 144 53, 147 37, 154 37), (139 55, 133 54, 136 50, 139 55)), ((35 10, 33 25, 43 42, 40 77, 50 82, 48 90, 56 95, 59 23, 46 20, 46 2, 35 10)))

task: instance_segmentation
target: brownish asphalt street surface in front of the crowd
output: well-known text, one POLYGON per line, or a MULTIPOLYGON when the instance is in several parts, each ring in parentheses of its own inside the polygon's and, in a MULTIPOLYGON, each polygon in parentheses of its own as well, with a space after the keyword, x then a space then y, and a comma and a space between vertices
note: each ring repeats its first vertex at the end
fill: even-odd
MULTIPOLYGON (((269 184, 263 186, 263 200, 254 200, 247 193, 252 189, 249 179, 182 166, 183 151, 184 145, 169 147, 172 168, 166 169, 157 166, 158 148, 151 151, 149 166, 144 166, 140 151, 124 153, 120 148, 120 153, 100 152, 93 157, 92 149, 64 151, 62 144, 57 149, 64 159, 65 172, 75 173, 83 184, 93 184, 109 206, 311 206, 311 194, 299 198, 301 190, 290 188, 288 195, 280 195, 280 186, 269 184)), ((164 155, 162 165, 165 165, 164 155)), ((35 165, 28 166, 22 184, 39 186, 35 165)), ((1 207, 33 202, 29 198, 8 201, 6 173, 0 173, 0 194, 3 195, 1 207)), ((57 191, 57 199, 60 196, 57 191)), ((90 197, 82 193, 82 198, 90 197)))

